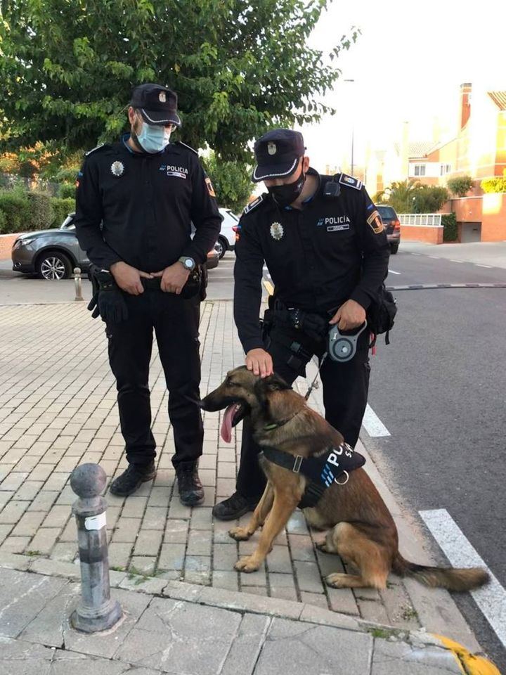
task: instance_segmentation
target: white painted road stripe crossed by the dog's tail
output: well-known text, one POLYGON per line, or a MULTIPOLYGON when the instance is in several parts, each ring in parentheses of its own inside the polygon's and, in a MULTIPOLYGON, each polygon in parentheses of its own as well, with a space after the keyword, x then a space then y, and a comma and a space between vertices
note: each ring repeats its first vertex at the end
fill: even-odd
POLYGON ((467 541, 446 508, 420 511, 420 515, 453 567, 484 567, 491 575, 488 584, 471 591, 471 594, 502 644, 506 646, 505 589, 488 570, 478 551, 467 541))

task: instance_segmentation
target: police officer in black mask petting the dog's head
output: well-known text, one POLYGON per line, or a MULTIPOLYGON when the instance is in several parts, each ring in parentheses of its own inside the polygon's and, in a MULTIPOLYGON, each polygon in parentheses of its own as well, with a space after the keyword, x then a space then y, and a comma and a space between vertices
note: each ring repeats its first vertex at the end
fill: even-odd
MULTIPOLYGON (((252 179, 267 193, 248 205, 235 246, 234 316, 246 364, 256 375, 273 371, 288 383, 322 357, 328 330, 358 333, 388 272, 382 221, 361 181, 322 176, 309 167, 298 131, 275 129, 254 146, 252 179), (259 324, 264 261, 275 285, 266 323, 259 324)), ((325 418, 354 446, 369 384, 370 335, 364 328, 346 362, 326 358, 320 371, 325 418)), ((236 492, 213 513, 232 520, 252 510, 265 487, 258 446, 245 419, 236 492)))

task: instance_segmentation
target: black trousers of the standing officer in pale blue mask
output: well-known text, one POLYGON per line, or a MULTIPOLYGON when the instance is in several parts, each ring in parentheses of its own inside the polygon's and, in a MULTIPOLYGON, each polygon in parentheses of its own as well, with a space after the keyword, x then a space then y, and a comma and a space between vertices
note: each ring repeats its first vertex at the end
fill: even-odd
POLYGON ((200 300, 145 290, 141 295, 126 295, 126 304, 129 318, 106 328, 126 459, 145 465, 156 456, 148 384, 154 329, 169 390, 176 447, 172 463, 176 467, 195 461, 202 454, 204 439, 200 408, 195 404, 200 400, 200 300))

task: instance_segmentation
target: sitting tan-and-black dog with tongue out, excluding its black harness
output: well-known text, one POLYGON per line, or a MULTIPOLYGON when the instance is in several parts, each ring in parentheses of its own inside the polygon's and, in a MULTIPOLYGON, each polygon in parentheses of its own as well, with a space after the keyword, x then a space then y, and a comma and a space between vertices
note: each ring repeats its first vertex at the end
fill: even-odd
MULTIPOLYGON (((228 442, 232 427, 248 415, 254 439, 260 446, 268 445, 293 456, 318 456, 343 442, 342 435, 278 375, 261 379, 245 366, 230 371, 226 380, 202 400, 201 406, 206 411, 226 408, 221 435, 228 442)), ((268 480, 264 494, 248 525, 229 532, 233 539, 242 541, 262 527, 257 549, 235 563, 235 570, 240 572, 259 569, 306 487, 306 478, 301 473, 268 461, 265 456, 260 461, 268 480)), ((391 571, 402 577, 414 577, 426 586, 452 591, 468 591, 488 581, 487 572, 479 567, 458 570, 405 560, 398 551, 394 519, 362 468, 352 471, 346 484, 332 483, 316 506, 304 508, 304 515, 309 525, 328 530, 318 548, 325 553, 338 553, 358 571, 329 574, 325 581, 333 588, 384 589, 391 571)))

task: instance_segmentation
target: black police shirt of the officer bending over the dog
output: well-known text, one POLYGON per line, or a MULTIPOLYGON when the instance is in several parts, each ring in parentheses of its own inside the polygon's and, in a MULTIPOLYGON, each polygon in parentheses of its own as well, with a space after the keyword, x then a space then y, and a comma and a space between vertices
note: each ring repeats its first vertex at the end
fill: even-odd
POLYGON ((259 328, 264 261, 276 297, 288 307, 325 312, 346 300, 367 309, 388 274, 389 244, 361 181, 338 174, 340 193, 324 194, 331 176, 302 210, 280 210, 268 193, 246 207, 235 245, 234 316, 245 352, 263 347, 259 328))

